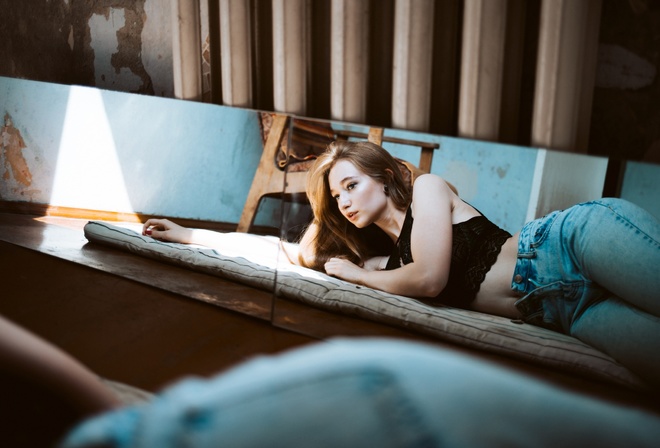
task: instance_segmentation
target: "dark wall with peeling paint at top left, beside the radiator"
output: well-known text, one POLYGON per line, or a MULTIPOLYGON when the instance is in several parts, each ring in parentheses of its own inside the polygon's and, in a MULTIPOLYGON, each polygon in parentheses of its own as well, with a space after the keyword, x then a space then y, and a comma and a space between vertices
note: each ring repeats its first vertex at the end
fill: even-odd
POLYGON ((2 76, 174 95, 169 1, 24 0, 2 14, 2 76))

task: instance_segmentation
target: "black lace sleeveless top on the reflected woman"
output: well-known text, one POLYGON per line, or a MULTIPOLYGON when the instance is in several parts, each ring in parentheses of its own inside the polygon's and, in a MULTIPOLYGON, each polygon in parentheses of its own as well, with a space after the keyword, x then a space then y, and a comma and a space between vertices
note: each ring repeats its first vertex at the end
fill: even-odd
MULTIPOLYGON (((408 208, 406 219, 385 269, 396 269, 412 263, 410 233, 412 211, 408 208)), ((504 242, 511 234, 500 229, 485 216, 475 216, 452 226, 452 251, 449 280, 445 289, 434 298, 420 299, 429 305, 450 305, 467 308, 474 300, 495 264, 504 242)))

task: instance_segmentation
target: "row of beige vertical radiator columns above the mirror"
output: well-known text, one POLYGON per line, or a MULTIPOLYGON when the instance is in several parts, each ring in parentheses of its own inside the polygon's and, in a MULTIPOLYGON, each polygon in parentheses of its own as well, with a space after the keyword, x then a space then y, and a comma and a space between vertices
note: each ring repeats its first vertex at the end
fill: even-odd
MULTIPOLYGON (((602 0, 207 1, 218 104, 588 146, 602 0)), ((201 100, 199 1, 173 5, 176 96, 201 100)))

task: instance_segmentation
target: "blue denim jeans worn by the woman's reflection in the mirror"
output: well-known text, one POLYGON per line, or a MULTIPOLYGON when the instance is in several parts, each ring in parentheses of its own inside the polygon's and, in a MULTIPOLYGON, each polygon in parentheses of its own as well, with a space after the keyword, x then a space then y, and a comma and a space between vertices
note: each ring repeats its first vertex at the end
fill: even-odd
POLYGON ((621 199, 523 227, 512 288, 528 323, 572 335, 660 386, 660 223, 621 199))

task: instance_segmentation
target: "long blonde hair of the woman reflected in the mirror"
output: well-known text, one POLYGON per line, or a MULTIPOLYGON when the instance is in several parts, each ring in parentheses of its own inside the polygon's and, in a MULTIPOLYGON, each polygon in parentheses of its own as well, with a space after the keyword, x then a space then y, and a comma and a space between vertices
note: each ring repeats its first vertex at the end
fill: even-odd
POLYGON ((392 241, 375 225, 358 229, 339 211, 330 194, 328 175, 339 160, 352 162, 360 171, 382 182, 394 205, 405 210, 412 199, 412 186, 403 178, 403 165, 380 146, 371 142, 335 141, 315 161, 307 175, 307 197, 317 232, 312 243, 314 256, 301 263, 323 271, 331 257, 345 257, 356 264, 375 255, 385 255, 392 241))

